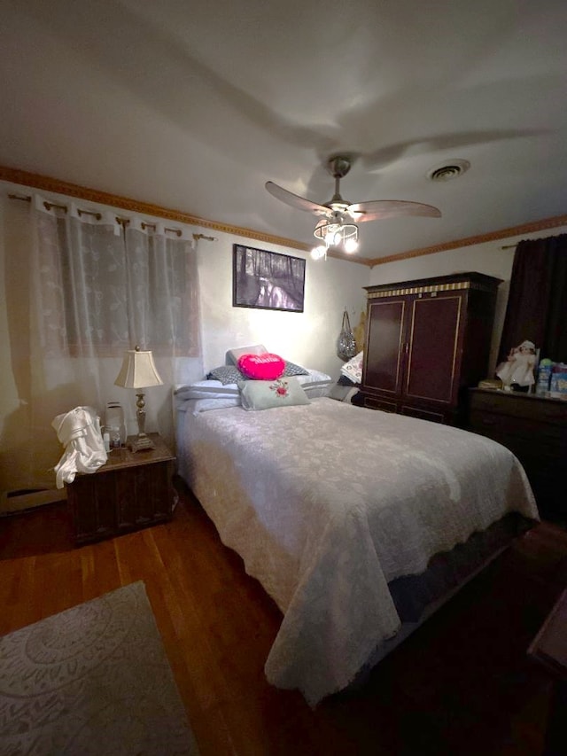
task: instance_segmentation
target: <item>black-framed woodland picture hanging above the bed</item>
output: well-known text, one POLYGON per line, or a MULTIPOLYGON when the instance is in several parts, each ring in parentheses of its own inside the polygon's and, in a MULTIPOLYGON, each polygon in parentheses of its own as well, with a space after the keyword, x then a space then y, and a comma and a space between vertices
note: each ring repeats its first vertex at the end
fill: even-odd
POLYGON ((305 260, 233 246, 232 306, 303 312, 305 260))

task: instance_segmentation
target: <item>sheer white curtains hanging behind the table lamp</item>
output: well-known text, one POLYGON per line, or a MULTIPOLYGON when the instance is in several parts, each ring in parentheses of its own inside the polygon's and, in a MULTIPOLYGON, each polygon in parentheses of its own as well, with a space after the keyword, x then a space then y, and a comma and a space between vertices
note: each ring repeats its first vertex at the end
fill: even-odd
MULTIPOLYGON (((63 204, 63 203, 62 203, 63 204)), ((50 423, 79 405, 120 401, 136 433, 136 396, 114 386, 124 352, 151 349, 164 386, 145 392, 146 430, 174 441, 172 385, 202 378, 198 271, 189 230, 31 203, 30 486, 50 486, 62 453, 50 423)))

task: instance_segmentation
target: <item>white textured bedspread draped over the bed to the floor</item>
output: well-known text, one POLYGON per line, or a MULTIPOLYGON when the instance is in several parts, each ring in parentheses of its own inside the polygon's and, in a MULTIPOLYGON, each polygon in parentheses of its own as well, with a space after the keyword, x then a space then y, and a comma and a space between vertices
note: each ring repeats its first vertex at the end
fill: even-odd
POLYGON ((325 398, 183 414, 183 476, 283 612, 268 680, 311 705, 400 628, 388 581, 509 511, 538 518, 516 457, 447 425, 325 398))

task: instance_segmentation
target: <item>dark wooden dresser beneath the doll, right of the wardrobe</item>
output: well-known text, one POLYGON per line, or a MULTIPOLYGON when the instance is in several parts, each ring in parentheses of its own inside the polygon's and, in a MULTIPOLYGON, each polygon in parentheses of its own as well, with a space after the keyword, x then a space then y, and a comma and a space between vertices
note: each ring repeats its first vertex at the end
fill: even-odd
POLYGON ((514 452, 543 518, 567 515, 567 401, 471 389, 468 427, 514 452))

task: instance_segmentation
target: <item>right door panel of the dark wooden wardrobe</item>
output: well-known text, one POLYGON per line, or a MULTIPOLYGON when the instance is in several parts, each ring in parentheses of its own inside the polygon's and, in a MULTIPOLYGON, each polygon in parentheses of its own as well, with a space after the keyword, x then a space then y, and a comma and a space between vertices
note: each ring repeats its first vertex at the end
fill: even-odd
POLYGON ((405 401, 457 400, 462 347, 462 294, 424 295, 412 302, 405 401))

